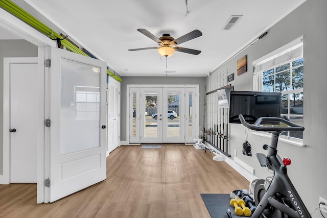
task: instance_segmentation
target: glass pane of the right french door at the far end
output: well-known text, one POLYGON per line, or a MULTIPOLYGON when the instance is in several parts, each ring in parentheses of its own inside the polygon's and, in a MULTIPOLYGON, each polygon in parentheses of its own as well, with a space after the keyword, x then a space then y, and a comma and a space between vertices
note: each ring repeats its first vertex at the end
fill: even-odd
POLYGON ((180 136, 180 119, 179 119, 179 98, 180 93, 168 92, 167 94, 167 137, 179 137, 180 136))

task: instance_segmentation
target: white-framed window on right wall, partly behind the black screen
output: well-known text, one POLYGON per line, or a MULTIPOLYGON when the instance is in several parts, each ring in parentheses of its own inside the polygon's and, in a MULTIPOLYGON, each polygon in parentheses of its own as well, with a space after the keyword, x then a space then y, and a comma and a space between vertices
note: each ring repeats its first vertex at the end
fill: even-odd
MULTIPOLYGON (((255 91, 281 92, 281 116, 287 116, 293 123, 303 126, 303 43, 279 50, 277 54, 265 56, 264 60, 253 62, 253 89, 255 91)), ((287 45, 286 45, 287 46, 287 45)), ((292 139, 303 139, 303 132, 283 132, 292 139)))

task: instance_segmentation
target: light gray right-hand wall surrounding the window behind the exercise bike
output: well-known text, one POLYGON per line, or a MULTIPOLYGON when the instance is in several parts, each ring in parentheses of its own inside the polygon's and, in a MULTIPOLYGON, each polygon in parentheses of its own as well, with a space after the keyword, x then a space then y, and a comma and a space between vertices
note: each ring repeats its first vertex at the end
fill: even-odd
MULTIPOLYGON (((327 199, 327 72, 325 60, 327 59, 327 1, 307 0, 281 21, 268 30, 268 35, 250 46, 236 58, 220 66, 211 77, 234 73, 235 80, 230 82, 235 90, 252 90, 252 61, 274 51, 278 47, 291 42, 297 37, 304 36, 304 120, 305 131, 303 141, 306 147, 298 147, 283 142, 278 143, 278 154, 292 159, 288 166, 289 177, 293 181, 299 195, 305 202, 308 210, 313 211, 318 206, 319 196, 327 199), (237 76, 237 60, 247 55, 248 71, 237 76)), ((264 32, 265 30, 263 30, 264 32)), ((241 49, 241 48, 240 48, 241 49)), ((209 84, 209 77, 206 84, 209 84)), ((209 88, 206 92, 210 91, 209 88)), ((262 149, 264 143, 269 144, 270 139, 249 133, 249 142, 252 154, 265 153, 262 149)), ((254 168, 254 175, 264 178, 268 175, 266 168, 261 167, 255 156, 242 155, 242 143, 245 141, 245 130, 242 125, 230 125, 230 151, 233 159, 233 150, 237 150, 237 157, 254 168)), ((237 188, 237 187, 236 187, 237 188)), ((316 211, 313 217, 321 217, 316 211)))

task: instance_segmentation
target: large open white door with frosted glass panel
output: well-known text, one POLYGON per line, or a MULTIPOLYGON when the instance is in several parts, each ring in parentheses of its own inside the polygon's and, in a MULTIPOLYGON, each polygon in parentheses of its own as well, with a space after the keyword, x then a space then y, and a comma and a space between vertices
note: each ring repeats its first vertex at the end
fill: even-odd
POLYGON ((52 47, 49 72, 53 202, 106 179, 106 63, 52 47))

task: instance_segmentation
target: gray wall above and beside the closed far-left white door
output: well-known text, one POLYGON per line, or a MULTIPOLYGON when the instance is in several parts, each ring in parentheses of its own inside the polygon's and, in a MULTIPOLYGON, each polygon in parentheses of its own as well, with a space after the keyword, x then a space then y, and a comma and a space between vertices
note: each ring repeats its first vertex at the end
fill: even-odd
POLYGON ((0 40, 0 175, 3 175, 4 57, 37 57, 37 46, 26 40, 0 40))

